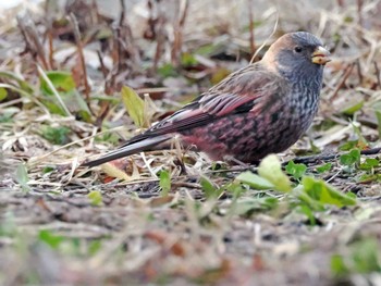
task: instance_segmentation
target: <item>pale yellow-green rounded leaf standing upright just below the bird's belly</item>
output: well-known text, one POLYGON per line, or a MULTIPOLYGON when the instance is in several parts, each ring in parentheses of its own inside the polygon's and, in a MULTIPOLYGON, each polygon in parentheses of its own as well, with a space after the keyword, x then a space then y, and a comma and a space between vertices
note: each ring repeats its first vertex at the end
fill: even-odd
POLYGON ((281 162, 275 154, 269 154, 259 164, 258 174, 269 181, 278 191, 291 191, 290 178, 282 172, 281 162))

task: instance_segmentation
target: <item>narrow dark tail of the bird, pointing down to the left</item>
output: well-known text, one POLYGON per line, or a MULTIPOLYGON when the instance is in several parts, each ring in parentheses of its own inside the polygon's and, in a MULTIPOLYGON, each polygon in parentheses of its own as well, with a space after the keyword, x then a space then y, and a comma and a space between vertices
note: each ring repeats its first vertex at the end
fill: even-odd
POLYGON ((107 163, 109 161, 116 160, 119 158, 134 154, 137 152, 164 149, 161 146, 161 144, 164 141, 168 141, 172 137, 169 135, 162 135, 162 136, 157 136, 157 137, 145 138, 143 140, 135 141, 132 144, 126 144, 125 146, 122 146, 121 148, 119 148, 114 151, 111 151, 99 159, 96 159, 96 160, 89 161, 89 162, 85 162, 82 165, 83 166, 97 166, 97 165, 107 163), (160 145, 160 147, 159 147, 159 145, 160 145))

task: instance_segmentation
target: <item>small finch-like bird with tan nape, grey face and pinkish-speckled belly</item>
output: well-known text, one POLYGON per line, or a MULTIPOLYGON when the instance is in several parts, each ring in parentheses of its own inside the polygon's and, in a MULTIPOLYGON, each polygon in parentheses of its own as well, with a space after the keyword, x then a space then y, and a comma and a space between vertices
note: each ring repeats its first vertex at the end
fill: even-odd
POLYGON ((260 61, 237 70, 120 148, 83 165, 169 149, 173 138, 211 160, 257 163, 286 150, 309 128, 329 61, 331 53, 315 35, 284 34, 260 61))

